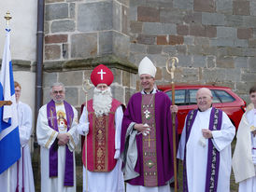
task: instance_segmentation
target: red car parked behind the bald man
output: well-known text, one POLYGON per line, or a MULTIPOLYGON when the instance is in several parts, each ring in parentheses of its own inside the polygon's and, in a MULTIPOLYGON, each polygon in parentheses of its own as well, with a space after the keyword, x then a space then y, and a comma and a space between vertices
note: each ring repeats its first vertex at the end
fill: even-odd
MULTIPOLYGON (((171 86, 157 86, 172 99, 171 86)), ((246 108, 246 102, 230 88, 208 85, 176 85, 175 103, 178 105, 178 134, 181 134, 184 121, 190 110, 197 108, 196 91, 200 88, 210 89, 213 95, 213 106, 224 111, 237 130, 246 108)))

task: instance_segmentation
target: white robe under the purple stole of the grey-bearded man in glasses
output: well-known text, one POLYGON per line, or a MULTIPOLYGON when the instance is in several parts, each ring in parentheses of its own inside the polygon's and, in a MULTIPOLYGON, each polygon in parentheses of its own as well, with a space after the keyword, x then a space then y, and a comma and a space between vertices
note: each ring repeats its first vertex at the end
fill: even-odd
MULTIPOLYGON (((36 136, 38 144, 40 144, 41 150, 41 191, 52 191, 52 192, 76 192, 76 160, 75 160, 75 147, 78 144, 78 112, 72 106, 74 112, 74 119, 68 134, 71 139, 67 143, 68 149, 73 152, 74 159, 74 186, 64 186, 64 165, 65 165, 65 146, 59 145, 58 148, 58 176, 49 177, 49 152, 50 146, 57 138, 58 132, 51 129, 48 125, 47 118, 47 105, 43 105, 38 114, 37 125, 36 125, 36 136)), ((64 104, 56 104, 56 113, 64 110, 64 104)), ((58 125, 59 131, 62 130, 58 125)), ((66 132, 62 130, 61 132, 66 132)))

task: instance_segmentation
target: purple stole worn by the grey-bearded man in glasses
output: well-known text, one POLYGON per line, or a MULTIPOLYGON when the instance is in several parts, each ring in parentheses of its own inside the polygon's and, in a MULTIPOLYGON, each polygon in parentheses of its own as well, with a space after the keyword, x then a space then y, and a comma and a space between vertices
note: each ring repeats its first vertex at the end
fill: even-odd
MULTIPOLYGON (((69 103, 64 101, 64 110, 66 114, 67 121, 67 130, 70 129, 71 124, 74 118, 74 112, 72 106, 69 103)), ((58 130, 58 122, 56 117, 56 108, 53 100, 47 104, 47 118, 48 125, 52 130, 58 130)), ((56 139, 53 144, 50 146, 49 154, 49 176, 56 177, 58 176, 58 140, 56 139)), ((73 152, 68 149, 68 146, 65 145, 65 167, 64 167, 64 185, 73 186, 74 185, 74 160, 73 152)))

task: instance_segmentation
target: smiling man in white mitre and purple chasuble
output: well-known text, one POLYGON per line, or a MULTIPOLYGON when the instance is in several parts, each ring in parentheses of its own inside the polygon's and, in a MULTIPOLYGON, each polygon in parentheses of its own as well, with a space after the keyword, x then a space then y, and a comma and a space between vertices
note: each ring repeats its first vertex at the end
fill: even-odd
POLYGON ((171 101, 155 88, 156 67, 148 57, 139 63, 138 75, 142 90, 131 97, 121 125, 126 191, 168 192, 169 184, 174 181, 176 158, 173 157, 171 101))

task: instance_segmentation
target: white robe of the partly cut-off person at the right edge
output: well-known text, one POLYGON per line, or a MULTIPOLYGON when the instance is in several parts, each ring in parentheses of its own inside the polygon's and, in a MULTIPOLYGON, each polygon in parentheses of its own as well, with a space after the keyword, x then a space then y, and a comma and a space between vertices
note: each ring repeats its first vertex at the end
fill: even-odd
POLYGON ((256 165, 253 164, 252 155, 256 156, 256 136, 253 137, 250 127, 256 127, 256 114, 251 104, 243 115, 236 134, 237 142, 233 157, 235 181, 239 182, 239 192, 256 191, 256 165))

